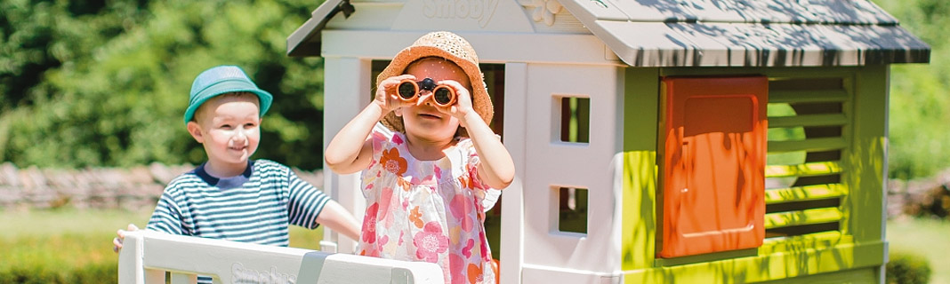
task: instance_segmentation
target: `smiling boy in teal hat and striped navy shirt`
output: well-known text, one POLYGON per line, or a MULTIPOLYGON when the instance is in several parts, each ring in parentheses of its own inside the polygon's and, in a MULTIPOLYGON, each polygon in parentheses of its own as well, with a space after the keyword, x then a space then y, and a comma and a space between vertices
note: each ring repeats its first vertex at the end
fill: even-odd
MULTIPOLYGON (((342 205, 286 166, 250 159, 272 99, 237 66, 213 67, 195 79, 184 122, 208 161, 165 187, 146 229, 288 246, 288 224, 324 224, 359 240, 359 224, 342 205)), ((125 232, 117 232, 113 251, 122 249, 125 232)))

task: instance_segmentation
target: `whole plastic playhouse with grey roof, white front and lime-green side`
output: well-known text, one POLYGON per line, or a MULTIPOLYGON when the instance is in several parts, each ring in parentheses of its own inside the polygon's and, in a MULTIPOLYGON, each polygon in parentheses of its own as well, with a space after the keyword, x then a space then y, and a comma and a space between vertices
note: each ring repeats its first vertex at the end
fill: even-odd
MULTIPOLYGON (((324 141, 433 30, 477 50, 517 166, 501 283, 883 282, 889 64, 930 47, 871 2, 327 0, 287 46, 325 63, 324 141)), ((325 178, 361 219, 358 174, 325 178)))

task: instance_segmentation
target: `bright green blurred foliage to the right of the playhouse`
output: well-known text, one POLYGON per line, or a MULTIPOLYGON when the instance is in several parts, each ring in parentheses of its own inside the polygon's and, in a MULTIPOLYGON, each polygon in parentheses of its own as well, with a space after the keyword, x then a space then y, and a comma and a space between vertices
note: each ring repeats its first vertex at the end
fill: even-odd
POLYGON ((891 178, 931 176, 950 168, 950 2, 873 0, 931 45, 929 64, 897 64, 891 72, 889 160, 891 178))

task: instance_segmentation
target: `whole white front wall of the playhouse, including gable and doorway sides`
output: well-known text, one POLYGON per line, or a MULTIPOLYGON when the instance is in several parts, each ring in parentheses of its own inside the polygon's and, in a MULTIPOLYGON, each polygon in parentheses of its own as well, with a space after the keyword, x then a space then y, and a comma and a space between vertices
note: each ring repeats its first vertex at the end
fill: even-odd
MULTIPOLYGON (((501 248, 494 248, 501 252, 494 256, 501 259, 501 281, 600 283, 608 277, 607 282, 618 282, 621 184, 615 155, 622 149, 626 64, 563 11, 547 26, 514 0, 482 3, 481 17, 454 18, 432 16, 426 3, 431 2, 353 2, 359 12, 349 19, 338 14, 322 29, 324 141, 370 102, 373 60, 391 60, 429 31, 456 32, 482 63, 504 64, 504 133, 499 134, 517 173, 504 189, 501 248), (492 14, 487 5, 494 5, 492 14), (590 143, 561 142, 565 97, 590 99, 590 143), (559 232, 559 187, 589 190, 587 234, 559 232)), ((366 204, 359 185, 359 174, 328 172, 324 190, 362 220, 366 204)), ((336 233, 327 234, 324 243, 335 243, 341 253, 355 247, 336 233)))

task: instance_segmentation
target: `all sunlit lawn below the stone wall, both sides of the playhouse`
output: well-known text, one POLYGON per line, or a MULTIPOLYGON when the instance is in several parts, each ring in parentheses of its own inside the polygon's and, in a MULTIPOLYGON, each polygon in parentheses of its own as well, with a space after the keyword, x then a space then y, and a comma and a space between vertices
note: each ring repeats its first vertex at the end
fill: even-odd
MULTIPOLYGON (((75 268, 89 262, 114 265, 111 241, 129 222, 143 227, 150 211, 45 210, 0 211, 0 271, 42 265, 75 268)), ((323 230, 291 227, 291 246, 316 249, 323 230)), ((903 220, 887 222, 890 250, 927 257, 931 283, 950 283, 950 222, 903 220)))

